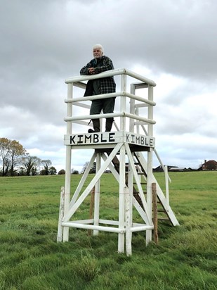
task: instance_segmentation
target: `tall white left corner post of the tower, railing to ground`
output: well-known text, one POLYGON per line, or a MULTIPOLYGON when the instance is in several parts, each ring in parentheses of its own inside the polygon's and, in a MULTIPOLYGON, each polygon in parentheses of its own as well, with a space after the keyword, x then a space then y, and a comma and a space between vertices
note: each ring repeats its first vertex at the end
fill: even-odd
MULTIPOLYGON (((72 98, 73 84, 67 85, 67 99, 72 98)), ((67 117, 72 117, 72 103, 67 103, 67 117)), ((67 121, 67 134, 72 134, 72 122, 67 121)), ((65 160, 65 203, 64 215, 70 208, 70 188, 71 188, 71 146, 66 146, 66 160, 65 160)), ((69 227, 63 229, 63 241, 69 241, 69 227)))

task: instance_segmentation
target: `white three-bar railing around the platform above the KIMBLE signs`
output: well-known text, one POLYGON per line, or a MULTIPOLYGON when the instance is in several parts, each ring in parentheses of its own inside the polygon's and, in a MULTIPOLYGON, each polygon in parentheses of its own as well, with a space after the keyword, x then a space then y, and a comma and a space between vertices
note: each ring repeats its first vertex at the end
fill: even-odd
MULTIPOLYGON (((120 118, 120 130, 126 130, 126 118, 129 120, 137 120, 141 122, 143 125, 148 125, 150 128, 149 135, 152 136, 152 125, 155 124, 153 120, 153 113, 152 107, 156 105, 152 100, 152 87, 156 86, 155 82, 146 77, 138 75, 136 73, 131 72, 131 70, 126 70, 125 68, 117 69, 117 70, 108 70, 104 73, 100 73, 97 75, 82 75, 77 77, 70 77, 65 80, 65 83, 68 85, 68 96, 65 99, 65 103, 67 103, 67 117, 64 119, 66 122, 77 122, 82 125, 88 125, 88 122, 84 122, 84 120, 90 120, 90 115, 73 115, 72 114, 72 105, 79 106, 83 108, 89 108, 89 106, 85 103, 86 101, 93 101, 97 99, 107 99, 107 98, 114 98, 119 96, 120 97, 120 111, 115 113, 109 114, 99 114, 99 115, 91 115, 91 119, 102 119, 102 118, 120 118), (98 94, 95 96, 83 96, 80 97, 73 97, 73 87, 79 87, 81 89, 86 88, 86 81, 88 80, 96 80, 103 77, 114 77, 114 76, 121 77, 121 89, 119 92, 110 93, 110 94, 98 94), (144 97, 137 96, 132 94, 131 92, 127 92, 127 79, 126 77, 133 77, 137 82, 140 81, 142 84, 148 89, 148 97, 145 99, 144 97), (126 99, 138 101, 140 103, 145 103, 148 107, 147 118, 143 116, 136 115, 136 113, 132 113, 128 111, 126 108, 126 99), (150 134, 151 133, 151 134, 150 134)), ((130 121, 131 122, 131 121, 130 121)), ((68 126, 70 129, 72 125, 68 126)), ((115 126, 117 127, 117 126, 115 126)), ((131 130, 129 129, 131 132, 131 130)), ((70 134, 71 132, 67 132, 70 134)))

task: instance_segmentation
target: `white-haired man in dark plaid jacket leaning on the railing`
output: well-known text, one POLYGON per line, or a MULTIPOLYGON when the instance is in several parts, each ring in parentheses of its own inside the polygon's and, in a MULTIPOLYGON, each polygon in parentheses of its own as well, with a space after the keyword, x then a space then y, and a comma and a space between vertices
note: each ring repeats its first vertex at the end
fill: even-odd
MULTIPOLYGON (((114 66, 110 58, 103 56, 103 46, 96 44, 93 46, 93 59, 81 68, 80 75, 95 75, 103 73, 106 70, 113 70, 114 66)), ((103 77, 96 80, 89 80, 86 86, 86 92, 84 96, 92 96, 97 94, 109 94, 114 93, 116 84, 114 77, 103 77)), ((90 115, 100 114, 101 110, 103 113, 114 112, 114 101, 115 98, 94 100, 91 103, 90 115)), ((105 121, 105 132, 110 132, 112 129, 113 118, 106 118, 105 121)), ((100 120, 93 119, 93 130, 89 129, 88 133, 100 132, 100 120)))

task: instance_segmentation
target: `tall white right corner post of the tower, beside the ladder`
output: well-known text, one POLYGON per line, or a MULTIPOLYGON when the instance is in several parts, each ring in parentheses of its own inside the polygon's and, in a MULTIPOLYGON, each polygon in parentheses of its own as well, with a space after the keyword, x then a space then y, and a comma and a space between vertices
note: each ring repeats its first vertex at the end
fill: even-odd
MULTIPOLYGON (((148 86, 148 99, 149 101, 153 101, 153 87, 151 85, 148 86)), ((148 105, 148 118, 153 120, 153 106, 148 105)), ((147 125, 147 134, 149 137, 153 136, 153 125, 147 125)), ((152 148, 147 152, 147 208, 149 219, 152 220, 152 148)), ((152 240, 152 230, 148 229, 146 231, 146 244, 148 244, 152 240)))

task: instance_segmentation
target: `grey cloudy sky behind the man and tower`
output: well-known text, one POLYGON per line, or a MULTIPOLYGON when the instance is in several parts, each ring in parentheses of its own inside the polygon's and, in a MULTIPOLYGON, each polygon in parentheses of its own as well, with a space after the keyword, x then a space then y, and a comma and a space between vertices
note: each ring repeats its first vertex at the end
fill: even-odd
MULTIPOLYGON (((115 68, 157 83, 154 137, 163 163, 217 160, 216 0, 0 4, 0 137, 65 168, 65 79, 79 75, 100 43, 115 68)), ((91 153, 73 153, 72 168, 81 170, 91 153)))

